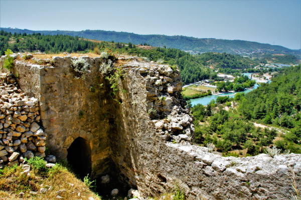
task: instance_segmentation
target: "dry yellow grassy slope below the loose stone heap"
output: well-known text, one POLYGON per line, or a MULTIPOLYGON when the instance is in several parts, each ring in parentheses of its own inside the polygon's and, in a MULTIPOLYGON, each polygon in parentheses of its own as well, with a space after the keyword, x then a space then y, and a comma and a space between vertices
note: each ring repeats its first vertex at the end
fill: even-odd
POLYGON ((88 199, 93 197, 100 198, 93 193, 81 180, 77 179, 73 173, 70 173, 65 167, 56 165, 48 172, 48 177, 42 177, 34 174, 21 174, 20 166, 5 167, 0 171, 0 199, 57 199, 57 195, 64 199, 88 199), (73 186, 69 183, 74 184, 73 186), (41 188, 49 188, 45 193, 40 193, 41 188), (61 193, 59 190, 65 189, 61 193), (36 195, 30 194, 30 191, 37 191, 36 195), (19 193, 24 192, 20 197, 19 193), (80 195, 78 195, 80 193, 80 195))

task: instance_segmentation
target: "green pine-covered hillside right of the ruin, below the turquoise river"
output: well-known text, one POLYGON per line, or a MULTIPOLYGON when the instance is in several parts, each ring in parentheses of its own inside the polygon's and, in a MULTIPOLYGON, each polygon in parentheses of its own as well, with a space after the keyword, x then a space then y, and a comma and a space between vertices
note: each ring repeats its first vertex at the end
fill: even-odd
POLYGON ((219 151, 235 156, 244 150, 256 155, 272 144, 282 152, 301 153, 300 68, 278 72, 271 83, 262 83, 247 94, 194 106, 196 142, 212 142, 219 151))

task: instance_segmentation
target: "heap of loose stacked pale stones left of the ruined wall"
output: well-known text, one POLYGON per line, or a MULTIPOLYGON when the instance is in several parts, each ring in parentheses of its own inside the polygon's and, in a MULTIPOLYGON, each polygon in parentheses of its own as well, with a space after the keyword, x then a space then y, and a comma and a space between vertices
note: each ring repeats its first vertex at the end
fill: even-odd
POLYGON ((18 89, 12 73, 0 75, 0 168, 24 158, 45 157, 47 134, 40 122, 39 100, 18 89))

